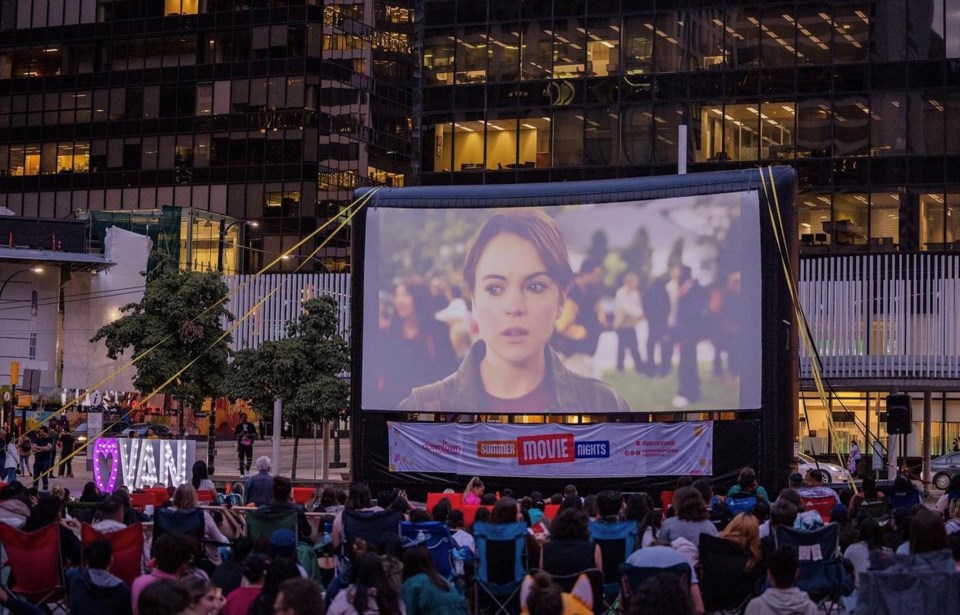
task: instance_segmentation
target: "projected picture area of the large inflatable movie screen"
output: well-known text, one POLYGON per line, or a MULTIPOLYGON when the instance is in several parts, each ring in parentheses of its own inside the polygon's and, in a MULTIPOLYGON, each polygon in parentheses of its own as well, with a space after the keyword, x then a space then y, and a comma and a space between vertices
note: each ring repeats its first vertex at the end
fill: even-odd
POLYGON ((366 212, 365 410, 756 410, 756 192, 366 212))

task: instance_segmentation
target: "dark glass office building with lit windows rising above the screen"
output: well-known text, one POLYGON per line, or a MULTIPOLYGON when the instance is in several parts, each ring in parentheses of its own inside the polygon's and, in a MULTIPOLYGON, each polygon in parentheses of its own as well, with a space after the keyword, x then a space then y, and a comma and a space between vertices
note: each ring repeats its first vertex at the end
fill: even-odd
POLYGON ((805 252, 960 250, 960 0, 423 0, 416 181, 789 164, 805 252))

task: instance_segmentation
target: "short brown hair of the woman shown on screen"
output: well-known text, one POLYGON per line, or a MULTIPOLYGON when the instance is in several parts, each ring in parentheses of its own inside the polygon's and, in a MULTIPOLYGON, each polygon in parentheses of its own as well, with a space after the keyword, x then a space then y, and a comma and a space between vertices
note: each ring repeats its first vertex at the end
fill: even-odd
POLYGON ((554 221, 542 211, 531 207, 497 212, 487 218, 474 235, 463 262, 463 280, 471 296, 476 288, 477 264, 483 251, 495 237, 503 234, 516 235, 533 244, 543 261, 547 275, 562 293, 566 293, 573 282, 567 244, 554 221))

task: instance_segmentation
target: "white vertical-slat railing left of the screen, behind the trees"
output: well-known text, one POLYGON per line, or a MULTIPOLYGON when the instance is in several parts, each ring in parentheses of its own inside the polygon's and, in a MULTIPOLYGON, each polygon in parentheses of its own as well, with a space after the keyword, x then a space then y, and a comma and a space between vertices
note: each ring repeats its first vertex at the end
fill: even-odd
POLYGON ((256 348, 266 341, 282 339, 287 322, 300 314, 300 304, 314 297, 330 295, 340 306, 340 335, 349 340, 350 275, 342 273, 279 273, 224 276, 231 296, 227 309, 240 318, 274 288, 277 292, 233 332, 234 350, 256 348))

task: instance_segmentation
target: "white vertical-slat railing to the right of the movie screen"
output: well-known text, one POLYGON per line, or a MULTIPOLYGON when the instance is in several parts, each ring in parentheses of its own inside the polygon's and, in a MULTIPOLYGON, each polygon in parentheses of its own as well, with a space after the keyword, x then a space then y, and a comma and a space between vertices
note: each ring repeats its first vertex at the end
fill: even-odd
POLYGON ((800 303, 826 377, 960 379, 960 254, 804 257, 800 303))

